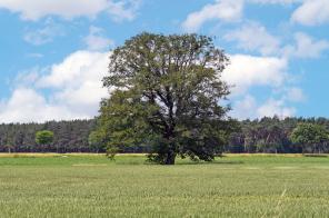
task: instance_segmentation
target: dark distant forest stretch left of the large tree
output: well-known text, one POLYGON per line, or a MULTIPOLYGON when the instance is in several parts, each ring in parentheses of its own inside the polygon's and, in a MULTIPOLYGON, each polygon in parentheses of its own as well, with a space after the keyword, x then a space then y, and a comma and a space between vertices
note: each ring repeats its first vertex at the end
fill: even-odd
POLYGON ((49 121, 46 123, 0 125, 1 152, 93 152, 88 136, 94 120, 49 121), (38 146, 36 132, 50 130, 54 139, 47 147, 38 146))

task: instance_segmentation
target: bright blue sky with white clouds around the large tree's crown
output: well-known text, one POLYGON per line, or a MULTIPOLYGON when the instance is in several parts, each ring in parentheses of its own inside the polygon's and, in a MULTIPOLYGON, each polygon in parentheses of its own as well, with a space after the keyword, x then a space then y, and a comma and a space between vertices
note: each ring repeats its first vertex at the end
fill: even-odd
POLYGON ((0 122, 92 118, 142 31, 215 37, 236 118, 329 116, 328 0, 0 0, 0 122))

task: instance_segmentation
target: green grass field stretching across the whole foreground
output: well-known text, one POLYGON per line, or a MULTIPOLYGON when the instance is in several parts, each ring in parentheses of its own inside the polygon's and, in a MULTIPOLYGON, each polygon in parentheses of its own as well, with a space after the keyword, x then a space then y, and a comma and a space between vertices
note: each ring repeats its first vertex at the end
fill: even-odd
POLYGON ((329 158, 0 155, 0 217, 329 217, 329 158))

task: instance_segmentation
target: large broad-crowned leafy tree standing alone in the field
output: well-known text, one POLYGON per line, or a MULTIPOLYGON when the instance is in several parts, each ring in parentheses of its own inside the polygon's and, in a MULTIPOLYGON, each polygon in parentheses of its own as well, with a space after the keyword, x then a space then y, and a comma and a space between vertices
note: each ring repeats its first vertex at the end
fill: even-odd
POLYGON ((228 65, 211 38, 141 33, 113 50, 103 85, 98 131, 109 147, 152 146, 149 159, 213 160, 235 121, 222 106, 229 95, 221 72, 228 65))

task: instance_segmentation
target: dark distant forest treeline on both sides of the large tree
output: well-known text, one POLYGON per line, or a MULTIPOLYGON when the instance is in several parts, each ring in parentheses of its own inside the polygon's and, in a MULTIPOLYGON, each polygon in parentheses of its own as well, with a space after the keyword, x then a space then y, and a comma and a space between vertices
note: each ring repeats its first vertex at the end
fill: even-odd
MULTIPOLYGON (((300 122, 317 123, 329 130, 327 118, 277 117, 240 121, 240 130, 230 136, 226 152, 301 152, 290 140, 290 133, 300 122)), ((46 123, 0 125, 0 152, 104 152, 104 148, 89 145, 88 138, 96 120, 49 121, 46 123), (47 147, 36 143, 36 132, 50 130, 54 140, 47 147)), ((311 148, 310 148, 311 149, 311 148)), ((129 147, 121 152, 144 152, 147 147, 129 147)), ((306 150, 307 151, 307 150, 306 150)), ((311 152, 311 150, 309 150, 311 152)), ((328 146, 321 152, 329 152, 328 146)))

